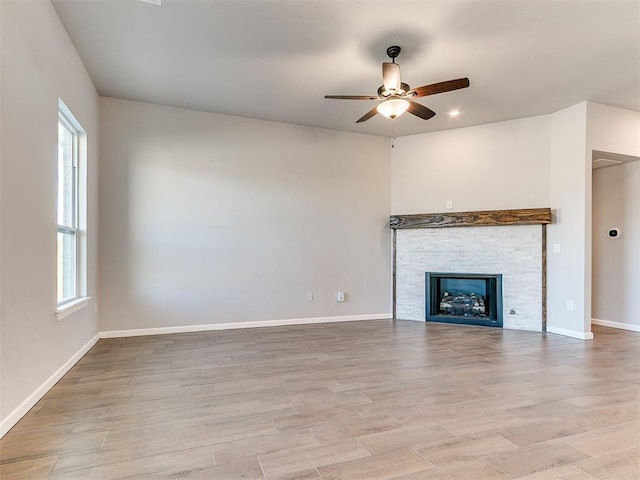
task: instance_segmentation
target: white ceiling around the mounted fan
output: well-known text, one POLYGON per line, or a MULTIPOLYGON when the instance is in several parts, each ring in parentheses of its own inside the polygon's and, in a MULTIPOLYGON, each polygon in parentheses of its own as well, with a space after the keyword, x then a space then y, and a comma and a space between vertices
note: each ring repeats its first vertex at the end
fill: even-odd
POLYGON ((104 96, 390 136, 548 114, 584 100, 640 111, 640 1, 52 0, 104 96), (386 48, 431 120, 380 115, 386 48), (447 112, 462 115, 450 118, 447 112))

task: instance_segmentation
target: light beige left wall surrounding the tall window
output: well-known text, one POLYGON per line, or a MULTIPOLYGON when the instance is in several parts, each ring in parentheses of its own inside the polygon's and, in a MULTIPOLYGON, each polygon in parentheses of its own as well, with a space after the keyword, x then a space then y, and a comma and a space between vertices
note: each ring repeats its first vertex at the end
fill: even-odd
POLYGON ((48 0, 3 0, 0 12, 1 436, 98 332, 93 305, 60 321, 54 313, 58 98, 88 134, 88 293, 95 297, 98 97, 48 0))

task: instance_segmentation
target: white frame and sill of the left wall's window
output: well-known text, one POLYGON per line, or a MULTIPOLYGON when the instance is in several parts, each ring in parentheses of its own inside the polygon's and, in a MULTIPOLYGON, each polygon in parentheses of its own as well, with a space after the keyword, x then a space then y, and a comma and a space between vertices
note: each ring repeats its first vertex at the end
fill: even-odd
MULTIPOLYGON (((87 212, 87 176, 86 176, 86 156, 87 156, 87 139, 86 132, 71 113, 69 108, 62 100, 58 101, 58 123, 61 123, 65 129, 72 134, 72 155, 73 155, 73 185, 71 188, 72 215, 71 225, 59 223, 57 218, 56 238, 58 233, 73 233, 74 251, 75 251, 75 271, 74 286, 75 291, 69 298, 57 301, 56 314, 58 320, 80 310, 88 305, 90 298, 87 296, 86 286, 86 265, 87 265, 87 245, 86 245, 86 212, 87 212)), ((56 131, 58 127, 56 123, 56 131)), ((60 158, 56 151, 56 178, 59 176, 60 158)), ((58 203, 58 195, 56 194, 56 205, 58 203)), ((56 212, 57 212, 56 207, 56 212)), ((56 213, 57 215, 57 213, 56 213)), ((57 243, 57 242, 56 242, 57 243)), ((56 251, 56 259, 58 252, 56 251)), ((57 260, 56 260, 57 265, 57 260)), ((56 271, 58 266, 56 266, 56 271)), ((60 288, 59 272, 56 273, 56 292, 60 288)), ((56 293, 56 298, 57 298, 56 293)))

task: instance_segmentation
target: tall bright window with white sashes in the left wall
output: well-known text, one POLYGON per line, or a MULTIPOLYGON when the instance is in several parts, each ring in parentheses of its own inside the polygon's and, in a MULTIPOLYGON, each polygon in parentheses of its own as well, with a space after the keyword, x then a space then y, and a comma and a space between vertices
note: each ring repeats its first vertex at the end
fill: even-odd
POLYGON ((85 132, 62 101, 58 109, 58 309, 86 294, 83 284, 84 223, 86 191, 80 169, 86 142, 85 132))

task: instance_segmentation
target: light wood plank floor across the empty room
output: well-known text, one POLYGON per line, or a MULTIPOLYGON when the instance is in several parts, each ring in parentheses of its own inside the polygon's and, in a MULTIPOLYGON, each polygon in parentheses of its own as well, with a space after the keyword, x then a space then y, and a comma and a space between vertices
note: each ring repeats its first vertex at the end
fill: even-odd
POLYGON ((640 334, 369 321, 101 340, 9 479, 639 479, 640 334))

